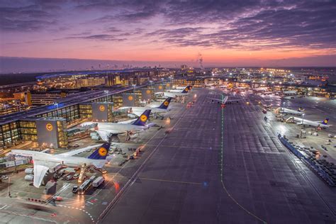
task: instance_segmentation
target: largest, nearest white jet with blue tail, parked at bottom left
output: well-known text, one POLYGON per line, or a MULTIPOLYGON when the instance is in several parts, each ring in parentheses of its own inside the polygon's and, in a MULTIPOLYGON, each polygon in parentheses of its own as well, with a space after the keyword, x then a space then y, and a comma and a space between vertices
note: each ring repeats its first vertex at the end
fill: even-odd
MULTIPOLYGON (((47 154, 45 152, 35 152, 30 150, 11 150, 10 154, 15 156, 32 157, 34 168, 28 168, 25 170, 27 176, 32 176, 33 174, 33 185, 35 187, 40 187, 43 178, 47 172, 52 172, 52 170, 57 166, 65 167, 81 167, 82 165, 94 166, 96 168, 102 168, 108 159, 108 150, 110 149, 110 143, 104 143, 103 145, 92 145, 79 150, 73 150, 70 152, 65 152, 57 155, 47 154), (100 146, 100 147, 99 147, 100 146), (74 157, 81 152, 91 150, 97 147, 97 149, 89 155, 89 157, 74 157)), ((25 177, 26 179, 26 177, 25 177)))

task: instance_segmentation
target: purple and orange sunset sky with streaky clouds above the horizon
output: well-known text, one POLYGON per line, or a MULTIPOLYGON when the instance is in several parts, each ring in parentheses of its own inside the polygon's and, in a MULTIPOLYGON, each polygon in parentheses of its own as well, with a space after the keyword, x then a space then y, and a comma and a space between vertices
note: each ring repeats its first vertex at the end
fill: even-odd
POLYGON ((305 58, 336 65, 336 1, 2 0, 0 7, 6 57, 194 62, 201 54, 205 65, 293 66, 305 58))

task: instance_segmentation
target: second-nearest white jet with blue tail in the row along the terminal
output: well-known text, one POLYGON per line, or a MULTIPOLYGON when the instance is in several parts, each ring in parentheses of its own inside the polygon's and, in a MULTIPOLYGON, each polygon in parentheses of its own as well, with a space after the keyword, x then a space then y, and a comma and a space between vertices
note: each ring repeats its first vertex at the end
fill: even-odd
POLYGON ((130 135, 146 130, 152 124, 146 125, 146 121, 150 117, 152 110, 145 110, 135 121, 125 121, 119 123, 99 123, 99 122, 84 122, 81 126, 96 124, 96 133, 98 133, 102 140, 108 141, 110 135, 126 133, 126 140, 130 140, 130 135))

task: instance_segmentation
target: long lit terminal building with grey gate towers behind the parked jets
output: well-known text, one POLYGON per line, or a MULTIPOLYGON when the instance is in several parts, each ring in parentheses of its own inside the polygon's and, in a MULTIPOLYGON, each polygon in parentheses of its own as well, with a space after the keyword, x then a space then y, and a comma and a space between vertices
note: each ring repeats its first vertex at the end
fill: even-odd
POLYGON ((138 106, 142 98, 152 99, 155 92, 150 85, 79 92, 60 98, 55 104, 0 116, 0 150, 26 141, 36 142, 39 147, 65 148, 67 128, 83 121, 113 122, 125 116, 114 107, 129 103, 125 99, 131 98, 132 106, 138 106))

